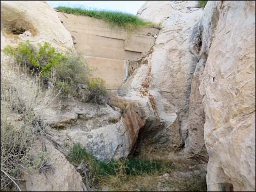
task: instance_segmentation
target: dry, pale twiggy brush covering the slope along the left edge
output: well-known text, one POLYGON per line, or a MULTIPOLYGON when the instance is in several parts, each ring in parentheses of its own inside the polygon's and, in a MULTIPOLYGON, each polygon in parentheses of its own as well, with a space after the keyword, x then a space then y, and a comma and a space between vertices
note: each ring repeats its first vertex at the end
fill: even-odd
POLYGON ((42 91, 40 78, 32 79, 23 70, 1 55, 1 191, 20 190, 24 172, 49 167, 45 147, 38 157, 29 151, 35 139, 44 140, 44 126, 34 108, 51 102, 53 82, 42 91))

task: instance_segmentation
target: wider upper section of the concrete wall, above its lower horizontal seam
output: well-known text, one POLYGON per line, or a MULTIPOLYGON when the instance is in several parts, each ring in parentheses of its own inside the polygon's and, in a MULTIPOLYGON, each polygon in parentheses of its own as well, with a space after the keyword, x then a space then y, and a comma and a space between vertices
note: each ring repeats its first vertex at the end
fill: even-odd
POLYGON ((155 28, 139 28, 132 32, 92 17, 58 12, 60 20, 76 39, 76 51, 86 56, 120 60, 136 60, 154 45, 155 28))

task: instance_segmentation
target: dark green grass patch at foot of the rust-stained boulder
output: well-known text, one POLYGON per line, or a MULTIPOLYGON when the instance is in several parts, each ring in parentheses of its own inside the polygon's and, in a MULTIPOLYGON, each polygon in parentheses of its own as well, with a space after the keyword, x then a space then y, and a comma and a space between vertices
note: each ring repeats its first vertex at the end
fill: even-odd
POLYGON ((75 144, 70 149, 68 159, 72 164, 77 166, 85 162, 96 183, 109 176, 126 177, 164 174, 167 168, 172 167, 172 162, 134 158, 104 162, 88 154, 80 144, 75 144))

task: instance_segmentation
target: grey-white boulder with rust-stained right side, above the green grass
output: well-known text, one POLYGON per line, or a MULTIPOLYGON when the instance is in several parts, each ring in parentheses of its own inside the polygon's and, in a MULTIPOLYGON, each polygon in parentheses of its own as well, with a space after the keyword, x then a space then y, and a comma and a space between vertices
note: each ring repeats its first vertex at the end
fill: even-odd
POLYGON ((38 111, 46 125, 58 129, 50 130, 50 135, 60 151, 68 154, 73 144, 80 143, 97 159, 111 160, 127 157, 132 152, 144 126, 139 103, 114 97, 111 102, 112 107, 68 101, 62 102, 67 106, 65 109, 38 111))

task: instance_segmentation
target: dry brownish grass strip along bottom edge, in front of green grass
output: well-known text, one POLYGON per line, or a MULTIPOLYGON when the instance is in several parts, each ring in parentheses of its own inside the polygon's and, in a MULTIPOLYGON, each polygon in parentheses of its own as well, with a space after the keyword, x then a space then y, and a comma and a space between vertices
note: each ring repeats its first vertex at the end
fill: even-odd
MULTIPOLYGON (((174 170, 172 170, 174 171, 174 170)), ((97 190, 106 191, 206 191, 205 173, 190 177, 161 178, 160 174, 142 174, 137 176, 108 176, 96 186, 97 190)))

